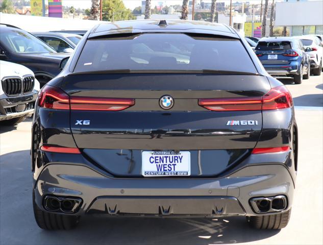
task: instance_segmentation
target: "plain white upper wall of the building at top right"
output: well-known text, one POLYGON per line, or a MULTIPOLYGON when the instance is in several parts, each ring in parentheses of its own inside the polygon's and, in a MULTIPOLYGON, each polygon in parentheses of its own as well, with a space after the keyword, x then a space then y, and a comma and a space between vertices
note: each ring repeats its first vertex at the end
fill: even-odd
POLYGON ((323 24, 323 1, 276 3, 276 26, 319 26, 323 24))

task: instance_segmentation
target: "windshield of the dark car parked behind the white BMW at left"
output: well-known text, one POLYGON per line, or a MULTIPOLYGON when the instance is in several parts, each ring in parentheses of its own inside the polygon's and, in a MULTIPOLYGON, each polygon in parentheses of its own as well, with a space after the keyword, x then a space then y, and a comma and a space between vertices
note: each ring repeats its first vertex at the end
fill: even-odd
POLYGON ((56 53, 52 47, 37 37, 19 29, 2 30, 0 40, 3 45, 14 53, 56 53))

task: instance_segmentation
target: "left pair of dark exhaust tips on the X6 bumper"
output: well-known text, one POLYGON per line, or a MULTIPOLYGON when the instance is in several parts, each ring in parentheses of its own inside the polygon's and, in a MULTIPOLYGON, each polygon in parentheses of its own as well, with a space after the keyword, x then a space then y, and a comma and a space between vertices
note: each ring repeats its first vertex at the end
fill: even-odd
POLYGON ((45 210, 61 213, 76 213, 81 206, 81 198, 56 197, 46 195, 43 201, 45 210))

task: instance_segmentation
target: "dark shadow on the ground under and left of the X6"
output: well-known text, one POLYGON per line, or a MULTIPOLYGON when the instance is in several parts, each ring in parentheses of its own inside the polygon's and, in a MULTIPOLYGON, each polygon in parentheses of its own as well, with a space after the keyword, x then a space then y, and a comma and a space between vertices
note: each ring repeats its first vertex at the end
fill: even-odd
POLYGON ((37 227, 32 207, 29 151, 1 156, 0 244, 222 244, 251 242, 276 235, 251 229, 245 217, 107 218, 82 217, 70 231, 37 227))

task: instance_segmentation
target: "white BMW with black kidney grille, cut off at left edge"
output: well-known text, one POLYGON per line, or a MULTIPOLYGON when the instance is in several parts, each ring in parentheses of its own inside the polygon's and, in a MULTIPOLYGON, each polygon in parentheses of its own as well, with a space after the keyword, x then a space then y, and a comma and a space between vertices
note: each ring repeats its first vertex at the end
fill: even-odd
POLYGON ((0 124, 16 125, 34 113, 39 82, 27 67, 0 61, 0 124))

